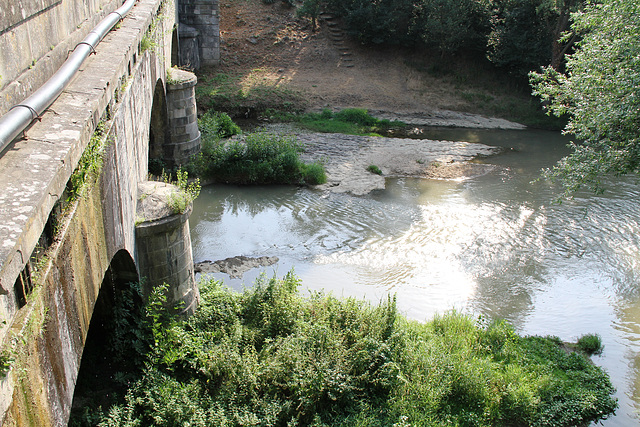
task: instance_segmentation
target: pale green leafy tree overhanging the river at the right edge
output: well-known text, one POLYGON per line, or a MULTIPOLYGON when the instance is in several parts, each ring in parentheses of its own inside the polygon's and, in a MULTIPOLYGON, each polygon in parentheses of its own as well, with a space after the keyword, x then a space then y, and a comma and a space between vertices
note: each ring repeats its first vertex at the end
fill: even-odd
POLYGON ((576 137, 572 154, 544 176, 569 196, 582 186, 603 190, 601 178, 640 171, 640 4, 605 0, 573 15, 582 35, 566 74, 552 68, 531 74, 534 94, 550 114, 566 115, 576 137))

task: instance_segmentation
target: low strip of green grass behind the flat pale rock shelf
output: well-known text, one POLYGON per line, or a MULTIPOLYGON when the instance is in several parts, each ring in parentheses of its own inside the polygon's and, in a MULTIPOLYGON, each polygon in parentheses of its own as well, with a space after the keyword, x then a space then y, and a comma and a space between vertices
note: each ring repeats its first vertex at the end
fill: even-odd
POLYGON ((295 114, 273 109, 265 112, 271 121, 293 122, 314 132, 343 133, 348 135, 381 136, 406 124, 397 120, 377 119, 363 108, 347 108, 337 113, 324 109, 320 113, 295 114))

